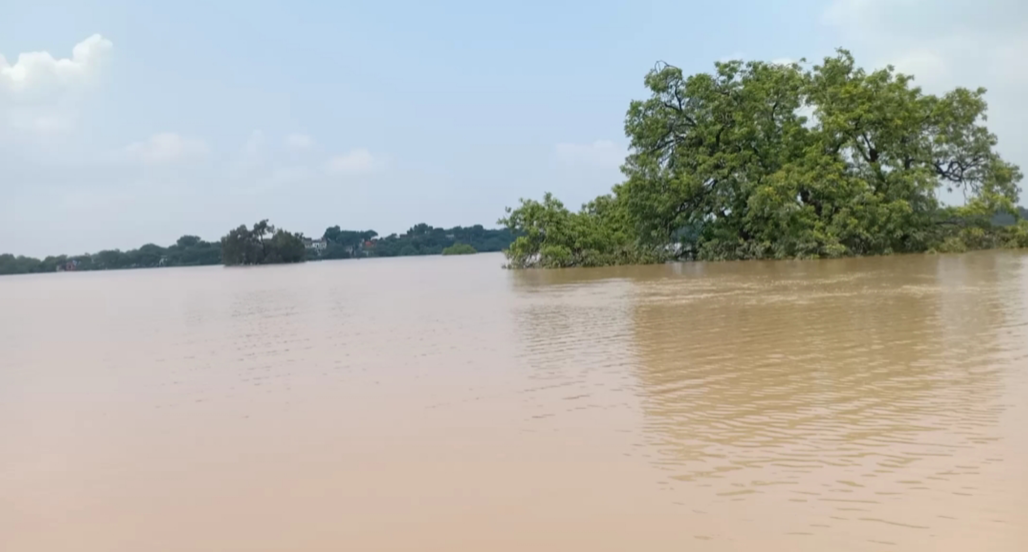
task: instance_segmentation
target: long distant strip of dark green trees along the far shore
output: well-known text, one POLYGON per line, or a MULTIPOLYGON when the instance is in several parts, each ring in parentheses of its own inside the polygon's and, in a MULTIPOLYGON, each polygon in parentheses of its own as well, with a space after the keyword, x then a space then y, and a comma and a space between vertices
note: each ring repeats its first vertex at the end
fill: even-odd
POLYGON ((500 252, 507 249, 515 234, 507 228, 454 226, 452 228, 416 224, 402 234, 379 236, 374 230, 325 229, 320 238, 304 237, 276 228, 262 220, 247 228, 230 230, 218 242, 206 242, 195 235, 183 235, 169 247, 147 244, 128 251, 106 250, 94 254, 60 255, 37 259, 0 255, 0 275, 65 270, 115 270, 170 266, 207 266, 224 264, 274 264, 331 259, 369 257, 405 257, 421 255, 467 255, 500 252), (456 249, 453 249, 456 248, 456 249), (450 250, 450 253, 445 253, 450 250))

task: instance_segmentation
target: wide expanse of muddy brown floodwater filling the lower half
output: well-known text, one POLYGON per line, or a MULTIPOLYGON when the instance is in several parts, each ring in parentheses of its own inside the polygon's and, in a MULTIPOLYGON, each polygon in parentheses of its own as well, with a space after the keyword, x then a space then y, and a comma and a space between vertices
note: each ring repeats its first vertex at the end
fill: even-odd
POLYGON ((0 550, 1028 550, 1028 254, 0 279, 0 550))

